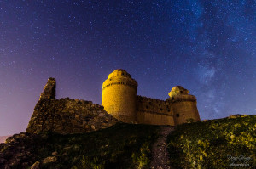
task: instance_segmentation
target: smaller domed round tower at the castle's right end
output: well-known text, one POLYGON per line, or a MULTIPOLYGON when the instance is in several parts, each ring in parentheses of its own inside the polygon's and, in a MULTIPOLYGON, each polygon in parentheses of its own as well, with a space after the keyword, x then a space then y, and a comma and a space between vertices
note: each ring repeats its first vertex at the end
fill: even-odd
POLYGON ((170 98, 167 100, 172 102, 175 125, 200 121, 196 98, 189 94, 189 90, 181 86, 173 87, 169 96, 170 98))

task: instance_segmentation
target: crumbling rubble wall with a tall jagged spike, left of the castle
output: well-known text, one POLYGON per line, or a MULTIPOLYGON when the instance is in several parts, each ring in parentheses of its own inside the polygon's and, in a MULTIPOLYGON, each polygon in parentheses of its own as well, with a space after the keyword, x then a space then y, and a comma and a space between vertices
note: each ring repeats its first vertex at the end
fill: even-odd
POLYGON ((55 79, 50 78, 26 132, 83 133, 110 127, 117 122, 101 105, 79 99, 55 99, 52 90, 55 90, 55 79))

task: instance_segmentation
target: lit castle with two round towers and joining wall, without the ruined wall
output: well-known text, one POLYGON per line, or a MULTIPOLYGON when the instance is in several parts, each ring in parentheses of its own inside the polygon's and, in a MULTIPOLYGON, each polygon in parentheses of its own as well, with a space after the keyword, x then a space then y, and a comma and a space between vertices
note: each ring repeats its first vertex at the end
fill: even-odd
POLYGON ((173 87, 164 100, 137 96, 137 82, 125 70, 114 70, 102 84, 102 106, 123 122, 178 125, 200 121, 196 98, 183 87, 173 87))

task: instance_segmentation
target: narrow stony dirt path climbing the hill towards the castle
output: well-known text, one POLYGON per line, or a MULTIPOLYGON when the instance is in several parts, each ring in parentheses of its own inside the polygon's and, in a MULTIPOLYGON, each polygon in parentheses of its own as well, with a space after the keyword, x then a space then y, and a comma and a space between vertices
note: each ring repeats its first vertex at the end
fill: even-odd
POLYGON ((174 127, 161 127, 160 136, 152 146, 150 169, 174 169, 170 166, 166 139, 174 127))

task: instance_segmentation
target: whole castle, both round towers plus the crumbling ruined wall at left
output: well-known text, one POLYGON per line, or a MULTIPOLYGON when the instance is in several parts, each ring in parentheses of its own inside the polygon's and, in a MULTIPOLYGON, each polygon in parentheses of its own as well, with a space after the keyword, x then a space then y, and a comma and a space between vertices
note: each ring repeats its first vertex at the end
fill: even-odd
POLYGON ((102 85, 102 105, 79 99, 55 99, 55 78, 49 78, 26 132, 84 133, 118 121, 175 126, 200 121, 195 96, 173 87, 164 100, 137 96, 137 82, 125 70, 114 70, 102 85))

